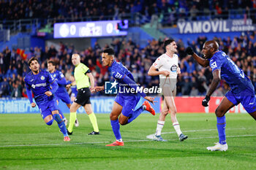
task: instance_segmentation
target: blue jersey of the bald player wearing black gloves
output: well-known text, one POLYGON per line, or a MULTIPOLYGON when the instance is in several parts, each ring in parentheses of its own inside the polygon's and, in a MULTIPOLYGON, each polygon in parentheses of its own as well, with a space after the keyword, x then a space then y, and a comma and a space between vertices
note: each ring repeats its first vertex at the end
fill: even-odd
POLYGON ((210 61, 212 72, 219 69, 221 77, 230 85, 233 93, 240 93, 246 88, 254 90, 251 80, 223 51, 217 51, 208 60, 210 61))

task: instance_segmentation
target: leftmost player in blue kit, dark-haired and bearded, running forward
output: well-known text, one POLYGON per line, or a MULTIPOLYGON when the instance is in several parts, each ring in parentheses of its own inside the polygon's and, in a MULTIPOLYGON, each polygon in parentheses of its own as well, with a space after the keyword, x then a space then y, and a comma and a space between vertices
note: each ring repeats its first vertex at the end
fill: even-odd
POLYGON ((26 74, 24 81, 26 83, 26 91, 31 107, 36 107, 32 98, 32 90, 34 93, 34 99, 45 123, 47 125, 52 125, 53 120, 56 120, 62 134, 64 134, 64 141, 70 141, 66 125, 61 119, 61 115, 59 115, 59 108, 57 106, 56 98, 53 95, 53 93, 58 89, 56 80, 49 72, 39 69, 39 62, 37 58, 33 57, 29 60, 29 69, 31 69, 31 72, 26 74))

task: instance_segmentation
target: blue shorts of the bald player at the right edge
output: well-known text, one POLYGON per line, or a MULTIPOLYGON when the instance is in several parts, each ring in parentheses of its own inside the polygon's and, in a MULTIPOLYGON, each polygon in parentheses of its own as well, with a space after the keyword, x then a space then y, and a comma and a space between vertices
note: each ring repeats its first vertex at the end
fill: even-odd
POLYGON ((256 111, 256 97, 252 89, 246 88, 240 93, 233 93, 232 90, 229 90, 225 96, 235 105, 241 103, 248 113, 256 111))

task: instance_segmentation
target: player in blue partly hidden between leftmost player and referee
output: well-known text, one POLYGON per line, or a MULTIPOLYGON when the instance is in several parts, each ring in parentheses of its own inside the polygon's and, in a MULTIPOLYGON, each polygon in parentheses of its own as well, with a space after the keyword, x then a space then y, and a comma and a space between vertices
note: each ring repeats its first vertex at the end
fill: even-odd
MULTIPOLYGON (((66 103, 67 107, 70 109, 72 102, 69 98, 69 93, 67 93, 66 85, 69 85, 71 82, 67 81, 64 77, 64 74, 62 74, 59 70, 56 69, 56 63, 54 61, 48 61, 48 71, 59 85, 59 88, 56 90, 56 93, 54 94, 57 98, 57 101, 61 99, 61 101, 64 101, 64 103, 66 103)), ((67 125, 67 119, 61 112, 61 109, 59 109, 59 114, 61 114, 61 117, 64 120, 65 125, 67 125)), ((76 124, 78 124, 78 120, 75 121, 75 126, 78 127, 78 125, 76 124)))

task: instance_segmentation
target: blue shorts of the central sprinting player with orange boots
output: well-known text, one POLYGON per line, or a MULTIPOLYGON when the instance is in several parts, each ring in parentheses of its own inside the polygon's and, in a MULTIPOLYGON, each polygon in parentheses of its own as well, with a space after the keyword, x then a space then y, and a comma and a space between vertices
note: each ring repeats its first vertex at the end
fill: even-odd
POLYGON ((115 101, 123 107, 121 111, 122 114, 126 117, 129 117, 133 113, 133 109, 135 109, 136 105, 140 101, 140 95, 131 94, 129 96, 124 96, 118 93, 116 95, 115 101))

